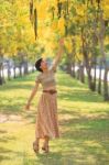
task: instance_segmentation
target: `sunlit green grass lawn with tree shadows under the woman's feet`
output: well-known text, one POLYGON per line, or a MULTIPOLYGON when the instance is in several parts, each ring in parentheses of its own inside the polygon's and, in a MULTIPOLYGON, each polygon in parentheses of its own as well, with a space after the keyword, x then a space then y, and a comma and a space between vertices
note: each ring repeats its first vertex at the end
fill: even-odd
POLYGON ((41 87, 31 111, 24 105, 35 74, 0 87, 0 165, 109 165, 109 103, 63 72, 56 75, 61 139, 51 141, 50 154, 34 154, 41 87))

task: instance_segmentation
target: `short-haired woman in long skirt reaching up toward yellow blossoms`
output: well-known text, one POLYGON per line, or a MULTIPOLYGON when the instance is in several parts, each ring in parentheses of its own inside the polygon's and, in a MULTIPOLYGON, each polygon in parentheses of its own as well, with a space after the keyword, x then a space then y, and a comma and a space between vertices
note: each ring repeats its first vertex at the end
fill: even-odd
POLYGON ((26 109, 30 109, 32 99, 34 98, 39 85, 43 87, 43 92, 37 105, 37 117, 36 117, 36 129, 35 136, 36 140, 33 142, 33 150, 39 153, 39 142, 40 139, 44 139, 44 144, 42 150, 48 153, 48 141, 51 139, 59 138, 58 131, 58 120, 57 120, 57 91, 55 73, 58 62, 63 54, 64 40, 59 40, 59 50, 54 59, 52 67, 47 66, 46 61, 40 58, 35 63, 35 67, 41 74, 37 75, 35 79, 35 87, 28 100, 26 109))

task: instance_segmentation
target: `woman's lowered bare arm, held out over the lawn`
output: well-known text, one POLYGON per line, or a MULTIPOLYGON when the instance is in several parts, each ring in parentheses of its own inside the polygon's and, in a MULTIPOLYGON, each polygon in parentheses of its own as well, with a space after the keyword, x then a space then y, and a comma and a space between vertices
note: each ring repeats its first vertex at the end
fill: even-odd
POLYGON ((37 91, 37 88, 39 88, 39 82, 35 82, 35 86, 34 86, 34 88, 33 88, 33 90, 32 90, 32 92, 31 92, 31 96, 30 96, 30 98, 28 99, 28 102, 26 102, 26 106, 25 106, 25 109, 26 109, 26 110, 30 109, 31 101, 33 100, 33 98, 34 98, 34 96, 35 96, 35 94, 36 94, 36 91, 37 91))

